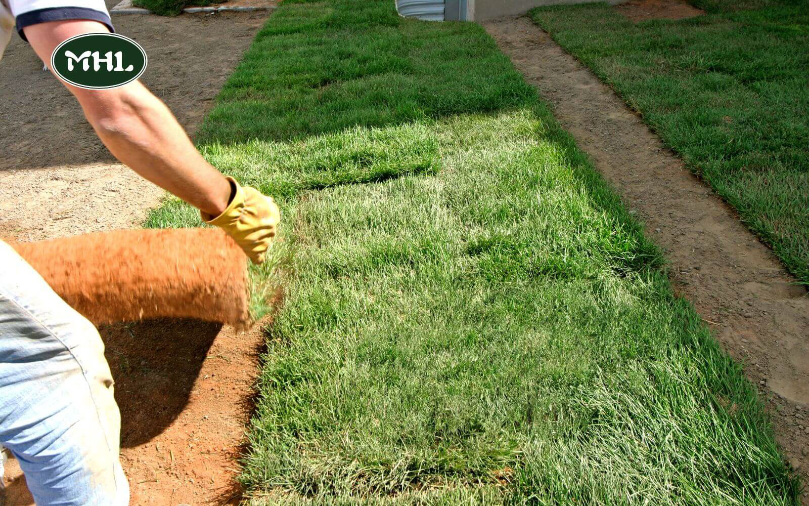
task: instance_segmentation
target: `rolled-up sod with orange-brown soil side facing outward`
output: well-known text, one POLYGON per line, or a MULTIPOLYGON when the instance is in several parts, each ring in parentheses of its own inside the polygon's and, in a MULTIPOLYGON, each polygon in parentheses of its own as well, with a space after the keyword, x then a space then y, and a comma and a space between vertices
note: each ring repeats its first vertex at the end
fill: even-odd
POLYGON ((95 324, 156 317, 250 324, 247 257, 219 229, 117 230, 10 244, 95 324))

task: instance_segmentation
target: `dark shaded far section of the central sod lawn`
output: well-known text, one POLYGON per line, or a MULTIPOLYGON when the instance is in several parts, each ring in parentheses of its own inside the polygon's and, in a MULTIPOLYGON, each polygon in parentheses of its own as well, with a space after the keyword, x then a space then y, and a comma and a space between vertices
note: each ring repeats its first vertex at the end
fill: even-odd
POLYGON ((533 100, 476 24, 403 19, 379 0, 285 2, 222 88, 197 142, 299 141, 533 100))

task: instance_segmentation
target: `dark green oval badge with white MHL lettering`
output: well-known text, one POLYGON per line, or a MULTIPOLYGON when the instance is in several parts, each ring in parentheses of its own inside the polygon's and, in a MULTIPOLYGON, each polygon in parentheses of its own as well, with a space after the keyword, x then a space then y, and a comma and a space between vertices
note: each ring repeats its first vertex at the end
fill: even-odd
POLYGON ((85 33, 65 40, 51 54, 51 68, 66 82, 91 90, 123 86, 146 70, 146 51, 116 33, 85 33))

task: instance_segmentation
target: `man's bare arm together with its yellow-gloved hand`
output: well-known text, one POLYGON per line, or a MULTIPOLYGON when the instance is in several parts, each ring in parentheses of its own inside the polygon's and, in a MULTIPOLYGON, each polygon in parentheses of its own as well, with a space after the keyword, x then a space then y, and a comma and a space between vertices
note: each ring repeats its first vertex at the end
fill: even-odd
MULTIPOLYGON (((43 62, 63 40, 108 32, 88 19, 23 27, 43 62)), ((261 263, 277 234, 281 211, 272 198, 239 185, 211 166, 193 147, 168 108, 138 81, 112 89, 84 89, 62 81, 109 151, 147 180, 201 210, 207 223, 227 232, 252 262, 261 263)))

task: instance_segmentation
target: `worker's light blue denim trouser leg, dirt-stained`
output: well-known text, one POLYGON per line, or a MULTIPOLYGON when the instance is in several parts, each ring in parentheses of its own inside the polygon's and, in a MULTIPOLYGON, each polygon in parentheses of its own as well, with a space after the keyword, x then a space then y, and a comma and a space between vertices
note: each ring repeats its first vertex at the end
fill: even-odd
POLYGON ((129 504, 120 425, 98 331, 0 241, 0 442, 36 504, 129 504))

